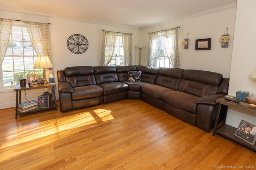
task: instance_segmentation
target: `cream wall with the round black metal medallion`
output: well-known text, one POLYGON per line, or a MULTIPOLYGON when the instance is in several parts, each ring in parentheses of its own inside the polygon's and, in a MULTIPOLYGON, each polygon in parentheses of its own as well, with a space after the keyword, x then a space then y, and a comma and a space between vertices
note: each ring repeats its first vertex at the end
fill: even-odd
MULTIPOLYGON (((106 25, 103 23, 92 23, 60 16, 47 16, 46 14, 24 14, 21 12, 9 12, 0 10, 0 18, 35 21, 51 23, 50 38, 52 51, 52 64, 54 66, 54 77, 57 79, 57 70, 63 70, 68 66, 97 66, 100 63, 101 46, 102 46, 102 29, 106 31, 116 31, 123 33, 132 33, 133 47, 133 64, 138 64, 138 48, 136 45, 141 44, 141 30, 138 28, 129 28, 116 25, 106 25), (70 35, 81 34, 88 40, 88 50, 82 54, 74 54, 68 50, 67 40, 70 35)), ((57 80, 55 80, 57 82, 57 80)), ((47 90, 47 89, 46 89, 47 90)), ((58 91, 56 91, 56 95, 58 91)), ((36 99, 42 94, 43 90, 27 90, 28 100, 36 99)), ((16 93, 13 88, 0 90, 0 109, 14 107, 16 93)), ((22 92, 22 101, 25 101, 24 92, 22 92)), ((58 97, 58 96, 57 96, 58 97)))

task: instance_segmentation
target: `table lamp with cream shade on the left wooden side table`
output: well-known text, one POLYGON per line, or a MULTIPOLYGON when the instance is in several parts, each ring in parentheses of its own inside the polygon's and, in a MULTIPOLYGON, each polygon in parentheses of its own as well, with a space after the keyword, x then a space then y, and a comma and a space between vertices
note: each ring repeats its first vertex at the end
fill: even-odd
POLYGON ((33 68, 43 68, 43 80, 44 83, 48 83, 46 80, 45 69, 52 68, 52 63, 48 56, 37 56, 36 62, 33 68))

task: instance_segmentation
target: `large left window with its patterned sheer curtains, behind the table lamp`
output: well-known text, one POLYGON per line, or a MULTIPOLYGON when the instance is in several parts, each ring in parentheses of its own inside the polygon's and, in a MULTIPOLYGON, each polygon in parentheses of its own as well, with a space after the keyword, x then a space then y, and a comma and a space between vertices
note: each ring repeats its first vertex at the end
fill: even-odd
MULTIPOLYGON (((26 79, 27 74, 38 74, 42 78, 43 71, 34 69, 34 62, 38 55, 51 57, 48 23, 9 21, 10 34, 0 35, 1 42, 6 42, 5 45, 1 44, 6 51, 0 54, 0 88, 20 84, 19 80, 26 79)), ((6 25, 1 22, 0 29, 6 25)))

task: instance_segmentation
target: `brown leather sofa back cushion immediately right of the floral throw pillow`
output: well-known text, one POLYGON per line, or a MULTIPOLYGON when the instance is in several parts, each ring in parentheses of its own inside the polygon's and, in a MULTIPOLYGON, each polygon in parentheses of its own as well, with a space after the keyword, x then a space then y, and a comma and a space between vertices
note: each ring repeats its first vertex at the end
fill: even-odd
POLYGON ((139 65, 137 67, 137 70, 142 72, 142 74, 141 74, 141 81, 142 82, 155 84, 156 78, 158 76, 159 68, 139 65))

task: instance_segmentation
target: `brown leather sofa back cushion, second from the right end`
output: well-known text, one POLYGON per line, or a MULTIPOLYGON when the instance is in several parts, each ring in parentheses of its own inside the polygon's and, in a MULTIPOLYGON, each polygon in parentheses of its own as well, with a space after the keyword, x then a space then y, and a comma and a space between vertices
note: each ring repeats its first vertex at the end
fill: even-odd
POLYGON ((155 84, 178 90, 178 86, 182 80, 184 69, 181 68, 160 68, 155 84))

